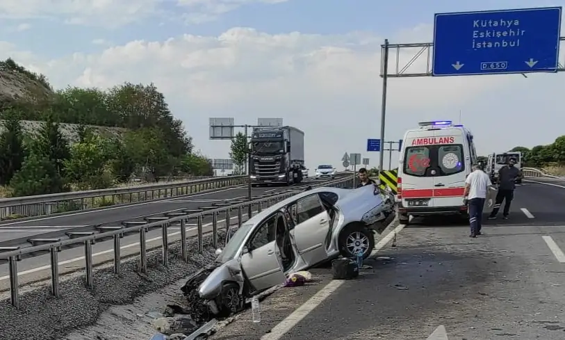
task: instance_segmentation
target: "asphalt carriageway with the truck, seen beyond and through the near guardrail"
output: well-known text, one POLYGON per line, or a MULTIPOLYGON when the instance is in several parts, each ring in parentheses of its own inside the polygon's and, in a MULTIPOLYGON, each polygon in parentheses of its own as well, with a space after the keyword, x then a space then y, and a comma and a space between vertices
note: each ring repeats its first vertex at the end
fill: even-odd
MULTIPOLYGON (((311 180, 304 182, 304 185, 293 186, 291 188, 303 188, 309 184, 319 184, 323 181, 311 180)), ((286 191, 288 187, 263 187, 263 188, 253 188, 253 195, 265 195, 270 193, 277 193, 279 191, 286 191)), ((128 207, 110 207, 108 209, 103 209, 100 211, 90 212, 78 212, 67 216, 54 216, 54 217, 42 217, 34 221, 26 222, 13 222, 12 225, 1 225, 0 226, 0 241, 10 238, 19 238, 31 236, 34 234, 40 234, 42 232, 52 232, 60 229, 67 229, 69 227, 74 227, 78 223, 70 223, 72 218, 85 219, 90 225, 97 223, 112 224, 106 221, 115 220, 135 220, 136 216, 147 216, 152 214, 163 213, 165 211, 179 211, 183 209, 198 209, 198 207, 210 206, 213 202, 224 202, 229 200, 234 200, 236 198, 247 197, 247 187, 245 188, 231 188, 223 189, 220 191, 215 191, 213 193, 196 194, 190 195, 190 197, 175 197, 170 200, 162 200, 158 202, 145 202, 138 205, 128 206, 128 207), (243 196, 243 197, 242 197, 243 196), (67 221, 69 225, 63 225, 61 223, 56 223, 58 220, 67 221), (42 225, 38 226, 37 223, 42 222, 42 225), (49 224, 51 223, 51 224, 49 224)), ((256 213, 256 212, 254 212, 256 213)), ((220 216, 218 219, 218 228, 225 229, 226 222, 223 219, 224 216, 220 216)), ((247 213, 243 214, 243 220, 247 220, 247 213)), ((197 225, 196 221, 189 221, 186 225, 187 235, 196 236, 197 235, 197 225)), ((203 230, 204 232, 212 231, 212 219, 211 217, 206 217, 203 220, 203 230)), ((236 225, 238 223, 237 211, 231 211, 230 224, 236 225)), ((114 223, 118 225, 118 223, 114 223)), ((180 238, 180 227, 171 226, 167 232, 169 236, 169 241, 174 241, 180 238)), ((162 244, 161 238, 162 232, 160 229, 153 229, 146 234, 147 244, 149 247, 158 247, 162 244)), ((121 243, 122 257, 138 254, 139 253, 139 237, 138 234, 131 234, 122 238, 121 243)), ((104 261, 113 259, 113 242, 103 241, 92 245, 92 254, 94 259, 94 264, 99 264, 104 261)), ((59 253, 59 270, 60 273, 66 273, 71 270, 77 270, 84 268, 84 250, 82 247, 71 248, 63 250, 59 253)), ((23 259, 18 264, 19 269, 19 280, 21 284, 26 282, 35 281, 42 278, 49 277, 49 254, 43 254, 39 257, 31 257, 28 259, 23 259)), ((8 264, 0 264, 0 290, 7 289, 9 286, 8 277, 8 264)))

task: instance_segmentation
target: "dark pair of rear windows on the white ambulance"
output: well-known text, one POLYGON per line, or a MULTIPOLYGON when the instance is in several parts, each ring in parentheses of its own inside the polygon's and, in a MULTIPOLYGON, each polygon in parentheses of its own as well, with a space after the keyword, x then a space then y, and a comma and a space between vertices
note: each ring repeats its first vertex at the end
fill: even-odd
POLYGON ((425 145, 407 147, 404 174, 417 177, 454 175, 465 170, 463 145, 425 145))

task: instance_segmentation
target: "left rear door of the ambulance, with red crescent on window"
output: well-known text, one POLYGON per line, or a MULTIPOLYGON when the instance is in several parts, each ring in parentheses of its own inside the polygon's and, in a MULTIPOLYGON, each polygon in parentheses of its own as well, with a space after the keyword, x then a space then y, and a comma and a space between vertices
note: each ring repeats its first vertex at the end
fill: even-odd
POLYGON ((434 131, 409 131, 402 157, 402 207, 433 208, 434 177, 431 170, 434 131))

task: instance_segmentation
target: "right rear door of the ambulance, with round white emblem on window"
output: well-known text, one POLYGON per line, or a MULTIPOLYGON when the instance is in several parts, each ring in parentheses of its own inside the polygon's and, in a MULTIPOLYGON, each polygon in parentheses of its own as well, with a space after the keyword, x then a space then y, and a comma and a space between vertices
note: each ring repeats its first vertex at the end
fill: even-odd
POLYGON ((432 169, 434 176, 434 207, 461 207, 465 179, 470 172, 469 145, 464 129, 435 130, 432 169))

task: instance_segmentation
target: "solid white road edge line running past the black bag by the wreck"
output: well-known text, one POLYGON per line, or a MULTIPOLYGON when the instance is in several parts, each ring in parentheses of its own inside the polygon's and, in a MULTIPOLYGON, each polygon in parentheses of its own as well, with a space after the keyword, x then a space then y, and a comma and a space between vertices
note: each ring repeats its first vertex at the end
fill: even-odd
MULTIPOLYGON (((375 245, 375 249, 372 250, 370 256, 373 256, 374 253, 382 250, 382 248, 384 248, 384 246, 394 238, 394 235, 398 234, 402 229, 404 229, 404 227, 405 225, 398 225, 398 227, 395 227, 393 231, 386 234, 386 236, 384 236, 384 238, 375 245)), ((302 306, 298 307, 283 321, 273 327, 268 334, 263 335, 261 340, 279 340, 284 337, 288 331, 292 330, 295 325, 300 323, 304 317, 316 309, 316 307, 324 302, 324 300, 329 298, 329 296, 331 296, 331 294, 334 293, 341 285, 345 284, 345 282, 346 280, 332 280, 329 282, 329 284, 322 288, 322 290, 314 294, 314 296, 304 302, 302 306)))

